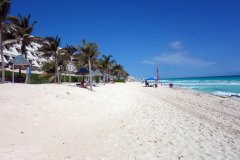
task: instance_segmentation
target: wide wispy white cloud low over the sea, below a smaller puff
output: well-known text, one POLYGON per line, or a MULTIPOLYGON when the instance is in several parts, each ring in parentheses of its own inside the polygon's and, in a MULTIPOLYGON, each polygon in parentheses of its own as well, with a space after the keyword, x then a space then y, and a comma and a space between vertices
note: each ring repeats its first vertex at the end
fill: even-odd
POLYGON ((188 51, 180 51, 174 53, 164 53, 158 57, 152 58, 152 60, 145 60, 142 63, 146 64, 157 64, 166 63, 178 66, 194 66, 194 67, 208 67, 216 62, 206 61, 204 59, 191 57, 188 51))

